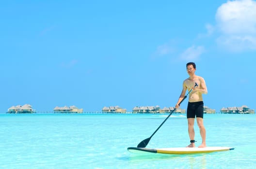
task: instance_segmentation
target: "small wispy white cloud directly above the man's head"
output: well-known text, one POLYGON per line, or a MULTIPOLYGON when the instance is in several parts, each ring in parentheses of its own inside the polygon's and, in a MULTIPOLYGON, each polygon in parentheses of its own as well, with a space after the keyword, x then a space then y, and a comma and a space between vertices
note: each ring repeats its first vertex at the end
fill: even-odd
POLYGON ((199 56, 202 55, 202 53, 205 52, 204 46, 191 46, 188 49, 186 49, 179 58, 186 61, 194 61, 199 58, 199 56))

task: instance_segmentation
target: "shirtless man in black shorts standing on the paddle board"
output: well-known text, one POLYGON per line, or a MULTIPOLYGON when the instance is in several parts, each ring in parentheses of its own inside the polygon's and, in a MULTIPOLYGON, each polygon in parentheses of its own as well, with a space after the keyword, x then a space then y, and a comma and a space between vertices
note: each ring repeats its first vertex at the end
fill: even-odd
POLYGON ((187 108, 188 130, 190 137, 190 144, 187 147, 195 147, 194 120, 196 117, 196 122, 200 129, 200 135, 202 137, 202 144, 199 147, 203 148, 206 147, 206 129, 203 123, 204 102, 202 94, 207 94, 208 91, 204 78, 195 75, 195 70, 195 63, 187 63, 187 72, 190 77, 183 81, 182 92, 175 107, 179 107, 178 104, 185 97, 186 90, 190 91, 192 89, 192 92, 189 95, 189 102, 187 108), (194 87, 195 83, 198 85, 197 87, 194 87))

